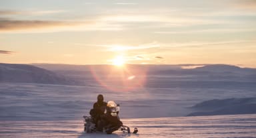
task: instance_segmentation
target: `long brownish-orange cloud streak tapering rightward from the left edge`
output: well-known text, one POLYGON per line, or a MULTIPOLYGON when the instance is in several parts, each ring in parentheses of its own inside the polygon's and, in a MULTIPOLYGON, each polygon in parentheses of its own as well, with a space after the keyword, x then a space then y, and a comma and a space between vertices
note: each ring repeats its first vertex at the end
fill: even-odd
POLYGON ((119 31, 121 27, 95 21, 41 21, 0 18, 0 33, 49 33, 60 31, 119 31))

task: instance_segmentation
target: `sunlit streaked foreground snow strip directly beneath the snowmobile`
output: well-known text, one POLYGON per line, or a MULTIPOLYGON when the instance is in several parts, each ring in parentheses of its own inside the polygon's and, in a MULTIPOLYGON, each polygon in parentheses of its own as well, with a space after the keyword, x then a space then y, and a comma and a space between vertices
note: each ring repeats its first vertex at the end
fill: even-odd
POLYGON ((137 134, 84 133, 83 121, 0 121, 0 137, 256 137, 256 115, 123 119, 137 134))

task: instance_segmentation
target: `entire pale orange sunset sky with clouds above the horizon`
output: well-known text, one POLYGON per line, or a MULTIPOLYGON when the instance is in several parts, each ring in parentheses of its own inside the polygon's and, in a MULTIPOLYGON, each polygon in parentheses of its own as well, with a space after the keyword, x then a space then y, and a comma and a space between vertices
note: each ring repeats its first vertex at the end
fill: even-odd
POLYGON ((5 63, 256 68, 255 44, 256 0, 0 0, 5 63))

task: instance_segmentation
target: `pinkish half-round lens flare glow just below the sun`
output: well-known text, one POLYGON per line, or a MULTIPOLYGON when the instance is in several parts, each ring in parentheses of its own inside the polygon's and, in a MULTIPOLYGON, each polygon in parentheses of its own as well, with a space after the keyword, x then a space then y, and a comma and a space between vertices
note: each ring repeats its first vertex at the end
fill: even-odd
POLYGON ((147 80, 147 70, 123 66, 91 66, 91 74, 99 85, 111 92, 135 92, 143 88, 147 80))

